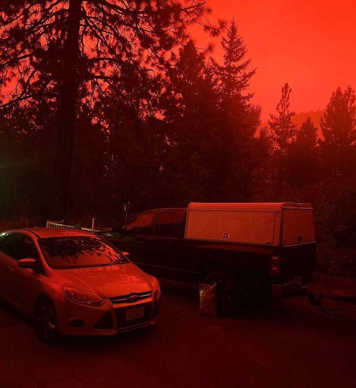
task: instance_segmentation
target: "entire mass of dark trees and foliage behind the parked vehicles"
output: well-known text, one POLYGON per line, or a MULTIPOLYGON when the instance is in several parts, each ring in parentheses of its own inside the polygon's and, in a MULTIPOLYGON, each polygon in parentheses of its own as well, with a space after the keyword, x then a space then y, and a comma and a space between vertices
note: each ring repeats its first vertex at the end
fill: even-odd
POLYGON ((231 21, 219 63, 204 2, 3 1, 0 5, 0 217, 101 219, 191 201, 310 202, 319 266, 355 273, 356 106, 331 96, 317 138, 298 130, 282 88, 258 128, 255 70, 231 21), (204 22, 205 21, 205 22, 204 22))

